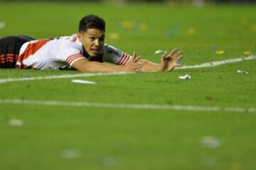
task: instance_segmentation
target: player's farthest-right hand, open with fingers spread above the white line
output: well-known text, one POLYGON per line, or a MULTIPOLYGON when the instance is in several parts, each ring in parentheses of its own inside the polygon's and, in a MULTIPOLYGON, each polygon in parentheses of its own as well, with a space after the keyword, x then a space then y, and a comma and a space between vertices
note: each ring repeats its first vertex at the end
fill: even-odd
POLYGON ((160 70, 161 72, 171 72, 176 67, 181 67, 181 64, 177 64, 178 60, 183 58, 182 51, 175 48, 171 52, 165 52, 164 55, 161 56, 160 61, 160 70))

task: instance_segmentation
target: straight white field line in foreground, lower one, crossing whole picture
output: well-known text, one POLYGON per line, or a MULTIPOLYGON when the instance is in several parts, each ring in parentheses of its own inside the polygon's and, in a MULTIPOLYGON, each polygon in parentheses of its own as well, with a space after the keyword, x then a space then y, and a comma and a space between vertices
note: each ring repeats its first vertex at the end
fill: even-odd
POLYGON ((173 110, 173 111, 224 111, 235 113, 256 113, 256 108, 233 108, 233 107, 211 107, 211 106, 182 106, 182 105, 155 105, 155 104, 127 104, 127 103, 90 103, 76 101, 33 101, 21 99, 0 99, 0 104, 20 104, 34 106, 70 106, 70 107, 92 107, 92 108, 129 108, 148 110, 173 110))

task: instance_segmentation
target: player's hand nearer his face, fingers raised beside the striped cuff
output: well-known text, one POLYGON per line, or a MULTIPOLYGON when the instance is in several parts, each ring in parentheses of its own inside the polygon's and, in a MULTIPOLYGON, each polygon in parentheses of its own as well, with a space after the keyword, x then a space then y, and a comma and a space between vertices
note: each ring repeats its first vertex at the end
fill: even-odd
POLYGON ((133 53, 132 58, 124 65, 125 72, 140 72, 142 71, 143 62, 140 61, 141 57, 137 57, 136 52, 133 53))

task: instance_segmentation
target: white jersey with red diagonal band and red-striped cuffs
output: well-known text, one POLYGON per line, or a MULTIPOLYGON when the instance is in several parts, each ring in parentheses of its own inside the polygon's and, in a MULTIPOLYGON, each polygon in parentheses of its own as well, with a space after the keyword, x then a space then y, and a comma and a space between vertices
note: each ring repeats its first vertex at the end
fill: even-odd
MULTIPOLYGON (((131 56, 111 45, 104 44, 102 55, 87 57, 90 61, 110 62, 124 65, 131 56)), ((78 35, 60 38, 33 40, 22 45, 16 62, 17 68, 66 69, 77 60, 85 58, 82 43, 78 35)))

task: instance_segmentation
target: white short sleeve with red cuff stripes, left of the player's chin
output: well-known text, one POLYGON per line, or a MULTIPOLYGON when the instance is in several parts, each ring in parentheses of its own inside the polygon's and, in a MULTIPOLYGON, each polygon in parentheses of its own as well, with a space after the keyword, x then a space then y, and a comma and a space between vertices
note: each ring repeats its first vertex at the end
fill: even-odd
POLYGON ((82 55, 82 49, 80 45, 70 42, 68 40, 65 40, 61 45, 60 45, 60 58, 67 62, 70 66, 77 60, 80 60, 82 58, 85 58, 82 55))

